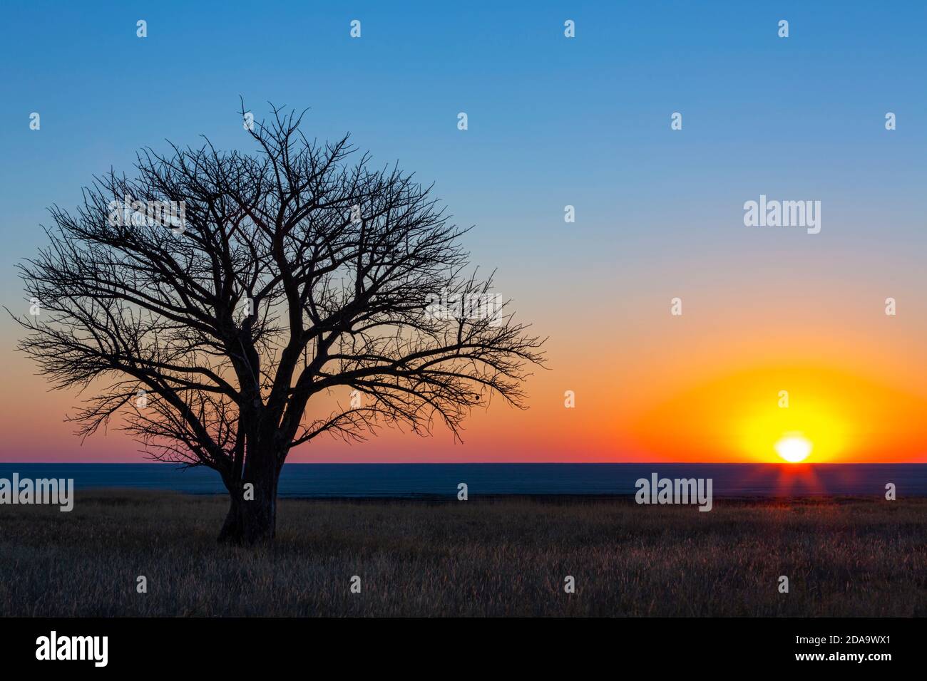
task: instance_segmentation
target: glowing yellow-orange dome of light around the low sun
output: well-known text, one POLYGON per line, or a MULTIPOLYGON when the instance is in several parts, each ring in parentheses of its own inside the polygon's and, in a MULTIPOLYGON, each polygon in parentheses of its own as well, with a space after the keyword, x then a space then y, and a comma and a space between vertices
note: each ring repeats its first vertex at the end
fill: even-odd
POLYGON ((806 364, 693 381, 642 404, 632 445, 667 460, 838 463, 922 460, 927 451, 927 397, 806 364), (790 436, 806 444, 783 442, 783 455, 777 444, 790 436))

